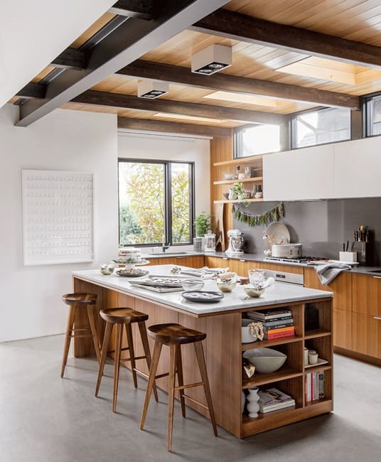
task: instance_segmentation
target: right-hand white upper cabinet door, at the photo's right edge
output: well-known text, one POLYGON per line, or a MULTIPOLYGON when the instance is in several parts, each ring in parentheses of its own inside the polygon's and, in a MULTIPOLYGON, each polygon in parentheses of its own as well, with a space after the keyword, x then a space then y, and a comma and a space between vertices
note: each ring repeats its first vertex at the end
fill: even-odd
POLYGON ((335 198, 381 196, 381 137, 335 146, 335 198))

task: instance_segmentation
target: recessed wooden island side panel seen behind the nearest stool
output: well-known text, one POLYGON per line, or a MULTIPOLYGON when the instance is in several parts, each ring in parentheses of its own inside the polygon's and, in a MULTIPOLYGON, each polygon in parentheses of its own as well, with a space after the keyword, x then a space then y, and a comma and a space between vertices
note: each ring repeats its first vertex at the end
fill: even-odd
MULTIPOLYGON (((178 313, 178 323, 182 326, 186 326, 191 329, 195 329, 195 331, 205 332, 206 331, 206 318, 193 318, 193 316, 188 316, 183 313, 178 313)), ((203 341, 203 350, 205 355, 205 362, 206 362, 206 350, 207 350, 207 340, 203 341)), ((184 383, 195 383, 200 382, 200 372, 198 370, 198 362, 197 358, 195 357, 195 348, 193 344, 190 345, 182 345, 181 346, 181 355, 183 359, 183 376, 184 376, 184 383)), ((208 368, 208 362, 206 362, 206 367, 208 368)), ((196 402, 202 403, 204 406, 206 405, 205 399, 205 392, 203 387, 194 387, 188 388, 185 390, 186 395, 191 397, 191 399, 195 400, 196 402)), ((186 399, 188 402, 188 399, 186 399)), ((209 417, 208 412, 197 405, 197 403, 193 403, 195 409, 198 410, 201 414, 209 417)))

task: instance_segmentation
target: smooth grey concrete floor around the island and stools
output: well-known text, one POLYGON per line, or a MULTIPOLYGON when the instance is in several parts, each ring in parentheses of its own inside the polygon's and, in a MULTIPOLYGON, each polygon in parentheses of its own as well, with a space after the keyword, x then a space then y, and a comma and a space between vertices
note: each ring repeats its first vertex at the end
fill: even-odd
POLYGON ((139 430, 146 382, 134 390, 122 370, 111 411, 112 365, 94 397, 97 363, 70 358, 60 378, 63 336, 0 344, 1 462, 362 461, 381 460, 381 369, 335 356, 335 410, 240 440, 175 406, 172 453, 166 451, 166 394, 151 402, 139 430))

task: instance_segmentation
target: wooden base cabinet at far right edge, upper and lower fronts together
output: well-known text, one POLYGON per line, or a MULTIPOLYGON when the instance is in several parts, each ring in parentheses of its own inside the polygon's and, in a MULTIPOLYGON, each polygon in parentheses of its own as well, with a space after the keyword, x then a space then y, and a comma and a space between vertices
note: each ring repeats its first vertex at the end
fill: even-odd
POLYGON ((381 278, 353 274, 353 351, 381 359, 381 278))

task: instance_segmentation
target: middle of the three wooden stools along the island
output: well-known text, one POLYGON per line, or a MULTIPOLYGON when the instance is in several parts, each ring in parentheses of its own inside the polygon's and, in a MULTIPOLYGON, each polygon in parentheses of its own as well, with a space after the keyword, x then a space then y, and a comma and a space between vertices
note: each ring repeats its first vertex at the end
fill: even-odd
MULTIPOLYGON (((102 355, 100 358, 100 370, 98 372, 97 387, 95 387, 95 396, 98 396, 100 390, 100 382, 102 380, 104 363, 106 362, 107 353, 115 353, 114 358, 114 392, 112 395, 112 411, 115 412, 117 409, 117 394, 118 394, 118 382, 119 382, 119 366, 121 362, 131 361, 131 370, 132 378, 134 380, 134 387, 137 388, 138 383, 136 380, 136 372, 143 377, 148 379, 148 375, 143 372, 136 370, 136 360, 145 359, 148 368, 151 367, 151 353, 149 351, 149 343, 147 338, 146 331, 146 320, 148 319, 148 314, 140 313, 135 311, 132 308, 105 308, 100 311, 100 316, 106 321, 106 328, 104 330, 104 339, 102 344, 102 355), (141 337, 141 343, 144 349, 144 356, 134 355, 134 341, 132 338, 132 329, 131 324, 138 323, 139 332, 141 337), (111 337, 112 326, 116 326, 116 335, 115 335, 115 349, 108 351, 109 340, 111 337), (126 327, 127 334, 127 347, 122 348, 122 333, 123 326, 126 327), (121 359, 120 353, 124 350, 129 350, 129 358, 121 359)), ((158 401, 156 386, 154 387, 154 395, 156 402, 158 401)))

